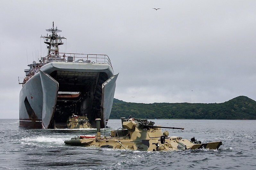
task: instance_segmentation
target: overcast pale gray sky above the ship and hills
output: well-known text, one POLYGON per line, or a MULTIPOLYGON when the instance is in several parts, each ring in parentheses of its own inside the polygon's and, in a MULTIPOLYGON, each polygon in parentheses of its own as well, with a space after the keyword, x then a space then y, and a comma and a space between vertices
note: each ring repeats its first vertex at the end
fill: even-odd
POLYGON ((1 0, 0 9, 0 118, 19 118, 18 76, 27 53, 29 63, 44 55, 52 21, 67 52, 110 57, 117 99, 256 100, 256 1, 1 0))

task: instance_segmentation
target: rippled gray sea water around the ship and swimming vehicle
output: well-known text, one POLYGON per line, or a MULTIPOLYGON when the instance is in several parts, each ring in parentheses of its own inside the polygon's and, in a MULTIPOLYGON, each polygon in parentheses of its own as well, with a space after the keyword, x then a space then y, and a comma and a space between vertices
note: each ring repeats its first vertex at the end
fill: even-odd
MULTIPOLYGON (((170 136, 222 141, 218 150, 134 151, 68 146, 64 140, 96 129, 31 129, 0 119, 0 169, 256 169, 256 120, 152 120, 183 127, 170 136)), ((105 131, 121 127, 109 120, 105 131)), ((101 130, 104 134, 104 129, 101 130)))

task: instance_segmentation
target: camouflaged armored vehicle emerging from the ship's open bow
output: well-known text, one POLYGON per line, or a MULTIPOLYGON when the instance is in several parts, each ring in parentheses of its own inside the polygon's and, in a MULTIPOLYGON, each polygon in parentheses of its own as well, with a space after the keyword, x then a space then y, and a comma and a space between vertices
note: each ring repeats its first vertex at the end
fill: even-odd
POLYGON ((85 114, 85 116, 77 116, 73 114, 68 118, 67 126, 69 129, 92 128, 89 119, 87 118, 87 114, 85 114))

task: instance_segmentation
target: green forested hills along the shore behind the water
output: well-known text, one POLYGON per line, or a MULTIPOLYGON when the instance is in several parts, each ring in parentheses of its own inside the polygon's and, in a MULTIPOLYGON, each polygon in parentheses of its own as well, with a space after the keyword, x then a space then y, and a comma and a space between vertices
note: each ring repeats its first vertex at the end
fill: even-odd
POLYGON ((256 119, 256 101, 238 96, 224 103, 130 103, 114 99, 110 118, 256 119))

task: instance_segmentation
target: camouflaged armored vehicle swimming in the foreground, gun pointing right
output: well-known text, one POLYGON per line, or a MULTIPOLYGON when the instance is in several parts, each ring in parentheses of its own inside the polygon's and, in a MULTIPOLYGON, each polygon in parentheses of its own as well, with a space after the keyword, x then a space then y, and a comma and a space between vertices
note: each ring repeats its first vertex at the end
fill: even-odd
POLYGON ((218 149, 222 142, 201 143, 193 137, 191 140, 179 136, 169 136, 168 131, 161 128, 184 129, 176 127, 154 126, 147 119, 125 119, 121 117, 122 128, 111 131, 111 136, 100 135, 100 119, 97 122, 97 135, 81 135, 64 141, 68 145, 98 146, 101 148, 131 149, 141 151, 218 149))

